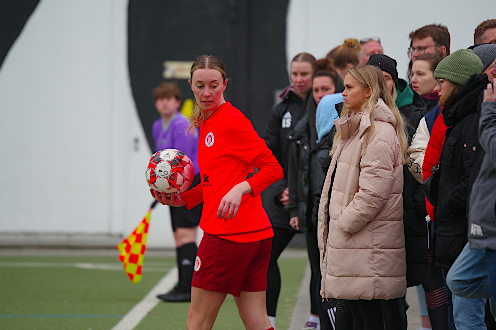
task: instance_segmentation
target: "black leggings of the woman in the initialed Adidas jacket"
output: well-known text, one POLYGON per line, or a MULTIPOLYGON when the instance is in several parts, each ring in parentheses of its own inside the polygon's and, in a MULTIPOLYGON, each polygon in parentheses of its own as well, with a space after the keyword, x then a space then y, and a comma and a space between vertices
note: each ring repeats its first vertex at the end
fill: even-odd
POLYGON ((288 246, 289 242, 295 236, 295 231, 288 228, 272 227, 274 237, 272 237, 272 251, 270 254, 269 270, 267 271, 267 290, 266 305, 267 315, 276 316, 277 300, 281 291, 281 273, 277 265, 277 259, 282 251, 288 246))

